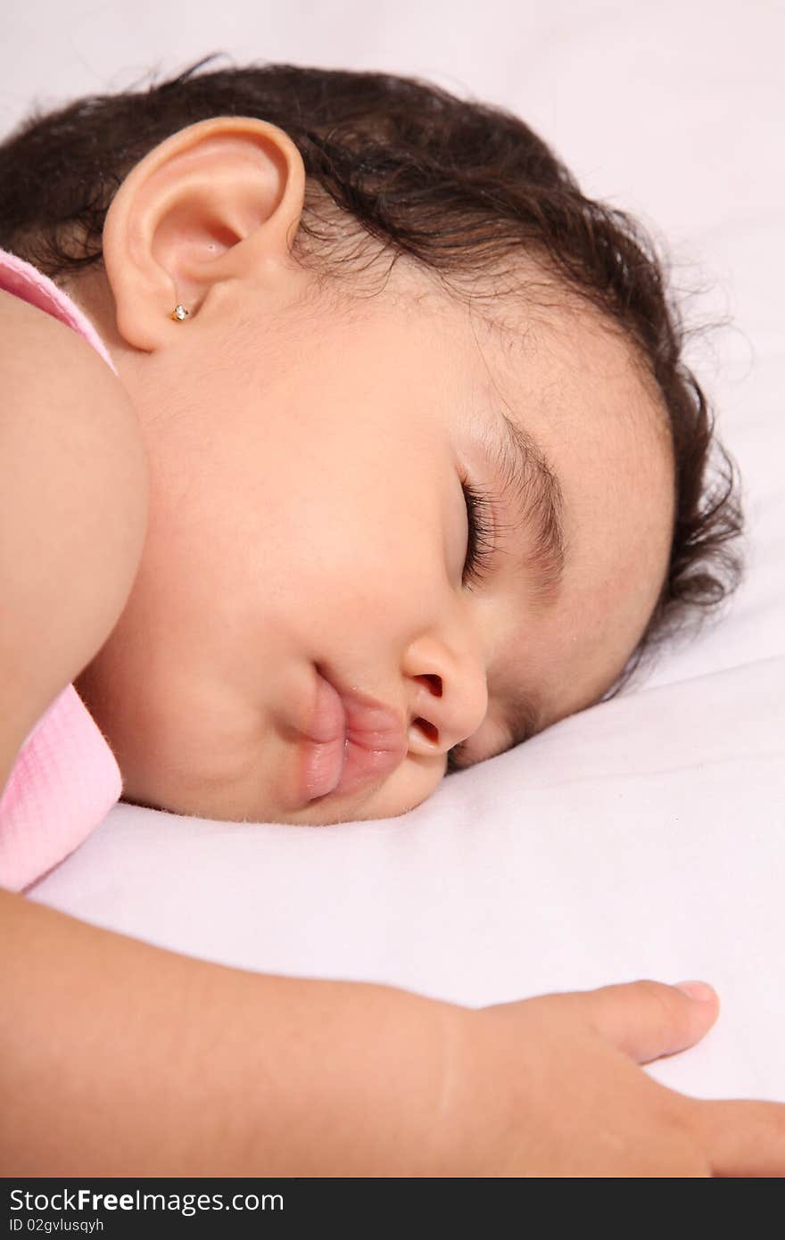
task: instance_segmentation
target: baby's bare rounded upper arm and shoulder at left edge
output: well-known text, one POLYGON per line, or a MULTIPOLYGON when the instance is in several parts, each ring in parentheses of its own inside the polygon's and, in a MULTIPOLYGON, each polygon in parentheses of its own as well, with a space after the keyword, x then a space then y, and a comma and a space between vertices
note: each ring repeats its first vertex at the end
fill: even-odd
POLYGON ((148 521, 135 410, 64 324, 0 290, 0 791, 130 594, 148 521))

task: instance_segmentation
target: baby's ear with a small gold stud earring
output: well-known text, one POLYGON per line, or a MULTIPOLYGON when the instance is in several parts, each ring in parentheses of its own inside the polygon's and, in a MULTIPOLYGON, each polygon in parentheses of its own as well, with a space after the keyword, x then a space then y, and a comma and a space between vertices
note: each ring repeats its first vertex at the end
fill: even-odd
MULTIPOLYGON (((253 117, 179 130, 125 177, 107 212, 103 257, 120 335, 154 352, 228 281, 269 288, 290 273, 305 165, 289 135, 253 117)), ((221 300, 213 298, 213 303, 221 300)))

